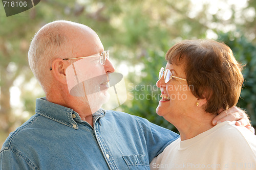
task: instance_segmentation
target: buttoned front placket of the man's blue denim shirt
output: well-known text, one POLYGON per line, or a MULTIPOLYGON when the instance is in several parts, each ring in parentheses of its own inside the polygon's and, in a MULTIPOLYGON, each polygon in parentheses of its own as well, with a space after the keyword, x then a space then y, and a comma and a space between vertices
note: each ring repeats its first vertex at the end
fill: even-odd
POLYGON ((95 124, 94 124, 94 133, 95 133, 96 139, 98 141, 99 147, 101 149, 101 152, 105 158, 105 161, 108 163, 109 168, 110 169, 118 169, 118 167, 114 161, 114 158, 109 150, 108 145, 106 145, 106 142, 104 141, 104 139, 101 137, 101 135, 99 133, 100 126, 101 126, 100 123, 96 120, 95 124))

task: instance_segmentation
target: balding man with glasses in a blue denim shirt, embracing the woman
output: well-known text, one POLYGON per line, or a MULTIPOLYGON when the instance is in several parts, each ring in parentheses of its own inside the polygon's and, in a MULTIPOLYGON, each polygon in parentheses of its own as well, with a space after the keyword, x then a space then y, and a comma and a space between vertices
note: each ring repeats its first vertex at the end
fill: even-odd
MULTIPOLYGON (((80 64, 88 79, 115 70, 91 28, 71 21, 48 23, 35 34, 28 56, 46 97, 36 100, 35 115, 5 141, 1 169, 150 169, 152 159, 179 137, 144 118, 101 109, 108 79, 92 81, 101 89, 92 97, 88 90, 84 96, 71 93, 67 76, 74 63, 88 59, 80 64)), ((79 72, 73 70, 76 78, 79 72)))

